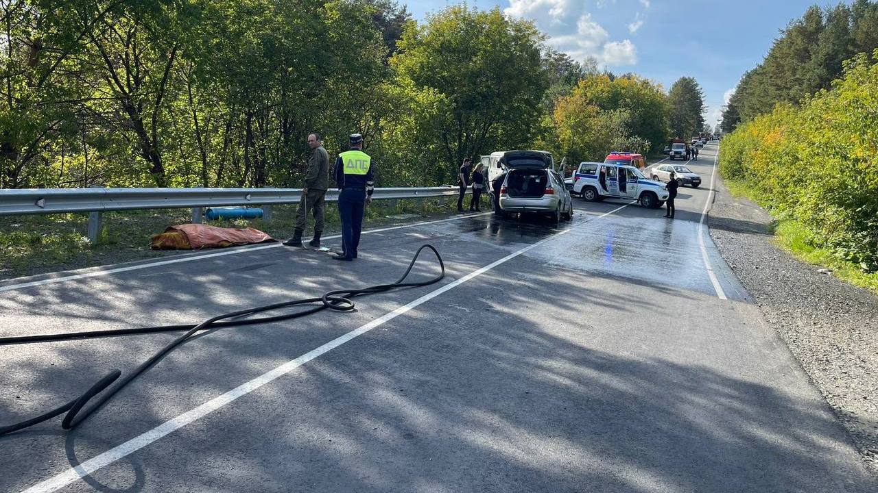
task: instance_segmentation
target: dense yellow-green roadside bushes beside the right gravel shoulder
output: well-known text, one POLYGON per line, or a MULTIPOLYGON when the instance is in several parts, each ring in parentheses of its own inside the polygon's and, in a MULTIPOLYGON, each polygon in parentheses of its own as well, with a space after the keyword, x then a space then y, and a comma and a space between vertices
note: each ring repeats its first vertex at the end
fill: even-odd
POLYGON ((878 50, 845 63, 844 77, 798 107, 738 126, 723 139, 720 173, 743 182, 815 247, 878 270, 878 50))

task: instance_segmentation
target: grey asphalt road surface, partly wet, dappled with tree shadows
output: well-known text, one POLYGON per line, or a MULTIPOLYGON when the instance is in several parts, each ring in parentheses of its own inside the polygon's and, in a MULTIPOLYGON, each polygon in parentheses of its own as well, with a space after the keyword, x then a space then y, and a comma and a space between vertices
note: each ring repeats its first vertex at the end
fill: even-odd
MULTIPOLYGON (((351 263, 257 247, 0 283, 0 335, 18 335, 392 282, 424 243, 449 269, 356 312, 198 337, 75 431, 0 438, 0 491, 874 492, 700 227, 715 150, 689 163, 706 183, 680 189, 673 221, 577 200, 558 227, 467 215, 371 232, 351 263)), ((3 347, 0 423, 173 337, 3 347)))

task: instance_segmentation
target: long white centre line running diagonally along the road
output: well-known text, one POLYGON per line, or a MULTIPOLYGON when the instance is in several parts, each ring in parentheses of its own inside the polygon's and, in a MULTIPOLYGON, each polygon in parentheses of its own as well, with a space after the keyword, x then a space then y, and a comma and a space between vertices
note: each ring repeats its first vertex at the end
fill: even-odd
MULTIPOLYGON (((624 204, 623 206, 617 207, 612 211, 605 212, 605 213, 601 214, 601 216, 598 216, 598 218, 604 218, 604 217, 614 213, 615 211, 621 211, 625 207, 628 207, 631 204, 637 204, 637 201, 633 201, 633 202, 630 202, 628 204, 624 204)), ((587 222, 591 222, 591 221, 587 221, 587 222)), ((255 377, 253 380, 250 380, 249 382, 242 383, 238 387, 235 387, 234 389, 231 389, 231 390, 227 391, 226 393, 219 395, 218 397, 213 397, 211 400, 207 401, 205 404, 201 404, 198 407, 196 407, 195 409, 192 409, 190 411, 186 411, 183 414, 177 416, 176 418, 171 418, 168 421, 165 421, 164 423, 162 423, 162 425, 158 425, 155 428, 153 428, 152 430, 149 430, 148 432, 144 432, 144 433, 138 435, 137 437, 134 437, 133 439, 129 439, 128 441, 126 441, 125 443, 122 443, 121 445, 113 447, 110 450, 107 450, 106 452, 104 452, 102 454, 98 454, 95 457, 92 457, 88 461, 84 461, 81 464, 78 464, 73 468, 69 468, 66 471, 64 471, 58 475, 54 475, 53 477, 47 479, 46 481, 40 482, 39 484, 36 484, 36 485, 32 486, 31 488, 25 489, 23 493, 43 493, 43 492, 55 491, 57 489, 64 488, 65 486, 67 486, 71 482, 75 482, 79 479, 82 479, 84 476, 90 475, 91 473, 97 471, 97 469, 109 466, 113 462, 119 461, 120 459, 123 459, 127 455, 133 454, 134 452, 140 450, 140 448, 147 447, 149 444, 155 442, 156 440, 162 439, 162 437, 170 434, 171 432, 175 432, 176 430, 179 430, 180 428, 184 427, 185 425, 189 425, 193 421, 196 421, 200 418, 204 418, 206 415, 212 413, 213 411, 217 411, 217 410, 219 410, 219 408, 221 408, 227 404, 231 404, 232 402, 234 402, 238 398, 248 395, 250 392, 254 391, 255 389, 259 389, 263 385, 270 383, 270 382, 276 380, 277 378, 290 373, 292 370, 299 368, 300 366, 304 365, 306 362, 312 361, 314 358, 317 358, 322 354, 326 354, 329 351, 332 351, 333 349, 335 349, 336 347, 342 346, 342 344, 348 342, 349 340, 356 339, 357 337, 363 335, 364 333, 371 331, 372 329, 374 329, 375 327, 378 327, 379 325, 385 324, 385 322, 389 322, 393 318, 399 317, 400 315, 406 313, 407 311, 411 311, 413 308, 417 307, 418 305, 427 303, 429 300, 431 300, 435 297, 438 297, 439 295, 443 294, 444 292, 449 291, 450 289, 455 289, 455 288, 457 288, 457 286, 463 284, 464 282, 467 282, 474 277, 478 277, 479 275, 485 274, 487 271, 489 271, 489 270, 491 270, 491 269, 493 269, 493 268, 495 268, 503 263, 506 263, 507 261, 511 261, 512 259, 515 259, 515 257, 517 257, 521 254, 524 254, 524 253, 528 252, 529 250, 533 250, 534 248, 539 247, 540 245, 543 245, 543 243, 545 243, 551 239, 558 238, 559 236, 566 234, 568 232, 571 232, 571 231, 572 231, 572 227, 568 227, 565 230, 559 231, 559 232, 551 235, 549 238, 541 239, 540 241, 537 241, 536 243, 529 245, 528 247, 523 247, 522 249, 517 250, 512 254, 508 254, 507 256, 503 257, 499 261, 494 261, 494 262, 486 265, 483 268, 479 268, 477 270, 474 270, 470 274, 464 275, 460 279, 457 279, 457 281, 445 284, 441 288, 435 289, 434 291, 431 291, 428 294, 426 294, 422 297, 419 297, 408 304, 400 306, 396 310, 391 311, 389 313, 386 313, 384 316, 382 316, 380 318, 376 318, 376 319, 372 320, 371 322, 369 322, 368 324, 361 325, 351 332, 348 332, 342 336, 339 336, 335 339, 332 339, 329 342, 327 342, 326 344, 324 344, 320 347, 317 347, 315 349, 312 349, 311 351, 307 352, 306 354, 302 354, 301 356, 299 356, 298 358, 296 358, 294 360, 287 361, 284 364, 278 366, 277 368, 271 369, 271 370, 265 372, 263 375, 259 375, 259 376, 255 377)))

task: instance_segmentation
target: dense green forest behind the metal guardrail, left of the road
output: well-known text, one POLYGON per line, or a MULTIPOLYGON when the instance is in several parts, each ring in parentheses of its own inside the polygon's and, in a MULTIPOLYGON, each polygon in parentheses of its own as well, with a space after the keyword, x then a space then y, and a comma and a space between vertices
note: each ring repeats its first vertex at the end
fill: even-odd
MULTIPOLYGON (((0 188, 295 187, 319 132, 379 186, 464 157, 656 153, 701 132, 702 89, 555 51, 529 21, 390 0, 0 0, 0 188)), ((572 165, 571 165, 572 166, 572 165)))

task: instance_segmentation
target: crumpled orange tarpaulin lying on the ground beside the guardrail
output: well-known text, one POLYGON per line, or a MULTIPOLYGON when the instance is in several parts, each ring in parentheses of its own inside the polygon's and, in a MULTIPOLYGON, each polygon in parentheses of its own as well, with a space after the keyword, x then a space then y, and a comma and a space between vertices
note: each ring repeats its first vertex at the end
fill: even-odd
POLYGON ((269 235, 253 228, 219 228, 208 225, 176 225, 154 234, 149 247, 154 250, 198 250, 224 248, 274 241, 269 235))

